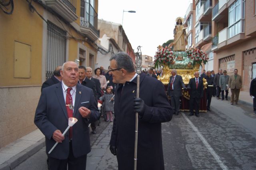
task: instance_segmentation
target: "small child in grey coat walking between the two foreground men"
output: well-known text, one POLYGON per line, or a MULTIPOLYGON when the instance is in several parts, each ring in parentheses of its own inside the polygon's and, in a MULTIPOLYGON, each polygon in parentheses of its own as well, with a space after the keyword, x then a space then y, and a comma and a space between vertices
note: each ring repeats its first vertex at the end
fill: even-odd
POLYGON ((114 94, 112 93, 112 86, 106 87, 106 93, 100 97, 104 102, 104 112, 106 113, 106 121, 113 122, 112 112, 114 112, 114 94))

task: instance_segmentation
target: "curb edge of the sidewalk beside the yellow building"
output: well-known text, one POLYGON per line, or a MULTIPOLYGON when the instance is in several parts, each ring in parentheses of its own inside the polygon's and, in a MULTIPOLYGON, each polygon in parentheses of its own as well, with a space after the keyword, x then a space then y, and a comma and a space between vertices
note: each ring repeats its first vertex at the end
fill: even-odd
POLYGON ((10 158, 8 161, 0 165, 0 170, 13 170, 16 166, 24 162, 30 156, 34 155, 45 146, 45 138, 42 138, 32 146, 26 148, 22 152, 10 158))

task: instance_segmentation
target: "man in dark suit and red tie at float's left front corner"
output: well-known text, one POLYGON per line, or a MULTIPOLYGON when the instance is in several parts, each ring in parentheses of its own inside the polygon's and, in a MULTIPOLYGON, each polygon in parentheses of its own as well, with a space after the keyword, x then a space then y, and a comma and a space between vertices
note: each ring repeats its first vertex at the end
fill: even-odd
POLYGON ((172 69, 172 76, 167 87, 167 94, 171 97, 171 106, 175 110, 175 114, 178 115, 180 112, 180 96, 182 88, 186 89, 186 86, 180 75, 177 75, 177 70, 172 69))

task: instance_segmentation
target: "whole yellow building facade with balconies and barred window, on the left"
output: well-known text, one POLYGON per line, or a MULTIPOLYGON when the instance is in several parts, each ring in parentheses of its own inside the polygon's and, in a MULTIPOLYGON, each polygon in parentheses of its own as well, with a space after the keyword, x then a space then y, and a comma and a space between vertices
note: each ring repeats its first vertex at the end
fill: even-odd
POLYGON ((0 12, 0 148, 32 132, 42 82, 66 61, 94 67, 98 0, 14 1, 0 12), (4 40, 4 41, 3 41, 4 40))

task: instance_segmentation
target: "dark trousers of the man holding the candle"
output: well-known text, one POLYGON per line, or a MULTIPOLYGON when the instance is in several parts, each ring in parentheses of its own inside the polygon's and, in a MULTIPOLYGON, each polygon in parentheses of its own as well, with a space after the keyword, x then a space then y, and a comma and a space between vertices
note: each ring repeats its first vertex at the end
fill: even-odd
POLYGON ((49 158, 50 170, 86 170, 86 158, 87 155, 74 157, 72 149, 72 141, 69 144, 68 159, 60 160, 52 157, 49 158))

